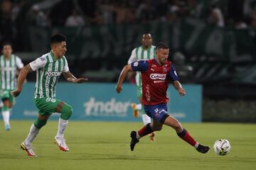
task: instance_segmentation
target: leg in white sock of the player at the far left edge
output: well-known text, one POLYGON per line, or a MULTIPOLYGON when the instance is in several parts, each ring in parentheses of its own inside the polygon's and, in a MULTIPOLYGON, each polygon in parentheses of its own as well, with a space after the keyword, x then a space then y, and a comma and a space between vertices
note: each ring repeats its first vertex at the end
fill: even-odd
POLYGON ((4 127, 6 130, 11 130, 11 125, 10 125, 10 109, 9 109, 9 98, 11 95, 9 94, 9 91, 3 91, 1 94, 1 100, 3 102, 3 107, 2 107, 2 116, 4 120, 4 127))

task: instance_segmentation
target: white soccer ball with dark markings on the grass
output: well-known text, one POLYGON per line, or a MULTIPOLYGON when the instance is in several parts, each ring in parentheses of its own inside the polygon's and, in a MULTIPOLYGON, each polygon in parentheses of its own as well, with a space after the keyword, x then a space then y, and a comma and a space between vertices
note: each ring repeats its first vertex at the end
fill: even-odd
POLYGON ((230 142, 225 139, 217 140, 213 145, 214 152, 218 155, 224 156, 230 152, 230 142))

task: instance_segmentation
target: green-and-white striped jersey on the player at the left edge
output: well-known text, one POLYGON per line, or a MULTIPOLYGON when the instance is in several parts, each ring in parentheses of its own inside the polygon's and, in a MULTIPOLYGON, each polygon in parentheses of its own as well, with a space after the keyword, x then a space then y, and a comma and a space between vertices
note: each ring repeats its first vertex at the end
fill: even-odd
POLYGON ((9 60, 6 60, 6 57, 4 57, 4 55, 1 55, 1 57, 0 57, 0 68, 1 68, 0 84, 1 84, 1 90, 3 90, 3 91, 4 90, 13 91, 14 89, 16 89, 17 68, 21 69, 22 67, 23 67, 23 63, 21 62, 21 59, 18 56, 11 55, 9 60))

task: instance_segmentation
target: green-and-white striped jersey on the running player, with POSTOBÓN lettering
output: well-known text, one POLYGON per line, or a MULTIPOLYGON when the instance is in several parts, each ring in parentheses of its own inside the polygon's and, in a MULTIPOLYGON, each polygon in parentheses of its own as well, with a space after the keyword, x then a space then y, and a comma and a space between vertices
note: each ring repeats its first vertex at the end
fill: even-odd
POLYGON ((55 87, 60 75, 69 71, 65 57, 56 60, 53 52, 48 52, 29 65, 33 71, 36 70, 35 98, 55 98, 55 87))

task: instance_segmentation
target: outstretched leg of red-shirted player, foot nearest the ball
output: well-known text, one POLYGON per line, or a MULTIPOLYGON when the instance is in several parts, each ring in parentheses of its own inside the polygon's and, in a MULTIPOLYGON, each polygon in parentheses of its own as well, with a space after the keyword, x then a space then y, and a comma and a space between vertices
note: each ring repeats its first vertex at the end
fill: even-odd
POLYGON ((182 140, 188 142, 188 144, 195 147, 198 150, 198 152, 206 153, 210 149, 209 147, 203 146, 196 142, 196 140, 193 139, 193 137, 188 133, 188 131, 182 127, 181 123, 179 123, 178 120, 176 120, 176 118, 172 117, 171 115, 169 115, 164 120, 164 125, 168 125, 171 128, 174 128, 174 130, 176 130, 178 137, 181 137, 182 140))

